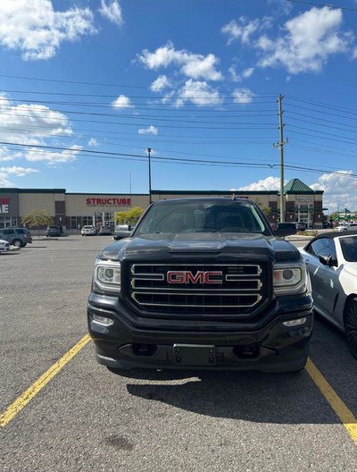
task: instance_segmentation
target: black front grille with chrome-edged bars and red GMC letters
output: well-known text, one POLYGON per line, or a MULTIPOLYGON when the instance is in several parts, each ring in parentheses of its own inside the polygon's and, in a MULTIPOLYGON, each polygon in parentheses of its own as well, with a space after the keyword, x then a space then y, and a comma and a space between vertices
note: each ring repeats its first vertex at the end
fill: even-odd
POLYGON ((129 299, 142 311, 245 315, 267 297, 258 264, 129 265, 129 299))

